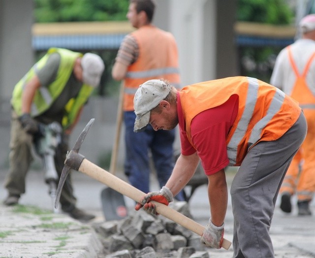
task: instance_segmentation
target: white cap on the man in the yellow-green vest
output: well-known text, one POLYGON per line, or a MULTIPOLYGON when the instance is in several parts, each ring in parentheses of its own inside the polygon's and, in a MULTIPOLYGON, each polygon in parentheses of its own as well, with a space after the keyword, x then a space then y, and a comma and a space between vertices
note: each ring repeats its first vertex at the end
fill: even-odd
POLYGON ((103 60, 93 53, 86 53, 82 57, 81 66, 83 69, 83 82, 97 87, 105 69, 103 60))

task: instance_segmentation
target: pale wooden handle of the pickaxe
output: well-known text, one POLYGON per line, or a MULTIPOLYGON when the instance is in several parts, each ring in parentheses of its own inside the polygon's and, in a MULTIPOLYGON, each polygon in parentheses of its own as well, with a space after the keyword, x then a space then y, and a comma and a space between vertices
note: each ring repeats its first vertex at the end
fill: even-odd
MULTIPOLYGON (((115 175, 109 173, 108 171, 100 168, 99 166, 95 165, 91 161, 87 159, 83 159, 80 164, 78 171, 85 173, 86 175, 96 179, 97 181, 107 185, 108 187, 116 190, 117 192, 126 195, 127 197, 135 200, 136 202, 140 202, 141 198, 145 195, 142 191, 138 190, 137 188, 131 186, 130 184, 126 183, 124 180, 116 177, 115 175)), ((175 211, 174 209, 153 201, 157 207, 157 212, 160 215, 176 222, 177 224, 186 227, 187 229, 191 230, 192 232, 202 235, 204 231, 204 226, 196 223, 195 221, 189 219, 185 215, 175 211)), ((223 238, 222 247, 226 250, 229 249, 231 242, 223 238)))

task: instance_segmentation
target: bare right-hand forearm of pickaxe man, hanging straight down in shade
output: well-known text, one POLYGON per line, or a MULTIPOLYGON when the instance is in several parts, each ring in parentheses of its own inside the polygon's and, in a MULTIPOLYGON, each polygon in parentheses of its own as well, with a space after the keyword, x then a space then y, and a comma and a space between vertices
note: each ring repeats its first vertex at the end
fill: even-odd
POLYGON ((208 180, 211 221, 215 226, 221 226, 227 209, 227 185, 224 169, 208 176, 208 180))

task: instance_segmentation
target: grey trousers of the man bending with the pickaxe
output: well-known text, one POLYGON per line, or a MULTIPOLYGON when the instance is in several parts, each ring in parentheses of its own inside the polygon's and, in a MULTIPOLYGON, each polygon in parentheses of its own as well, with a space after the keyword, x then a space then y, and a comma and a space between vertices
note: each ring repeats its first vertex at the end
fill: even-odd
POLYGON ((231 185, 234 258, 273 258, 269 229, 284 175, 307 131, 304 114, 275 141, 247 153, 231 185))

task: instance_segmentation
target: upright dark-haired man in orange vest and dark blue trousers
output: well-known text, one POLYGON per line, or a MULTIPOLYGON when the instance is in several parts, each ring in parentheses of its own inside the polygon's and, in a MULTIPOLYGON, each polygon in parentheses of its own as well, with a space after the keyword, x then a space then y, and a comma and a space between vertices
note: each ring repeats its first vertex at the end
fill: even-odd
MULTIPOLYGON (((164 78, 176 87, 180 83, 175 39, 151 24, 154 10, 154 0, 130 0, 126 16, 137 30, 126 35, 112 70, 115 80, 124 79, 125 173, 131 185, 145 193, 150 190, 149 150, 160 186, 172 173, 175 130, 155 132, 148 127, 134 133, 133 97, 139 85, 148 79, 164 78)), ((183 193, 177 198, 184 200, 183 193)))

